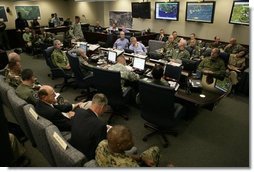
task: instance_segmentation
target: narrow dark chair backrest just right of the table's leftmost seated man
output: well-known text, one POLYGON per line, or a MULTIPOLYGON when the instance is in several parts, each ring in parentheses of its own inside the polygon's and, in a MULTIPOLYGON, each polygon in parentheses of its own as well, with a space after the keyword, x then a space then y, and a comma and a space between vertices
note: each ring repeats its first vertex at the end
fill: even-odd
POLYGON ((67 57, 69 59, 71 70, 74 73, 75 79, 78 81, 83 80, 84 75, 81 71, 80 63, 79 63, 79 59, 78 59, 77 55, 75 55, 71 52, 68 52, 67 57))

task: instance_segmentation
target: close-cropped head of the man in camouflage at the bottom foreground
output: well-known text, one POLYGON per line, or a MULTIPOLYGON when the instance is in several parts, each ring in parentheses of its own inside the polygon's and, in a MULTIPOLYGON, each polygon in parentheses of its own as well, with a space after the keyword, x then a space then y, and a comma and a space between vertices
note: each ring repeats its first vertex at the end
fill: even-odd
POLYGON ((107 134, 109 149, 114 153, 130 150, 134 143, 131 131, 123 125, 113 126, 107 134))

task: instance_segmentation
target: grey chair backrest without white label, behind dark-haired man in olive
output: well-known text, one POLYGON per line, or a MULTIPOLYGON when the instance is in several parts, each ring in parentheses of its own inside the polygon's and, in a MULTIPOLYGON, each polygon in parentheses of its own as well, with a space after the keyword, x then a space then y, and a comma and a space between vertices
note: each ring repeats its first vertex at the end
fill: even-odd
POLYGON ((15 90, 12 90, 12 89, 9 89, 7 91, 7 97, 12 107, 12 110, 14 112, 14 116, 17 119, 17 122, 20 125, 21 129, 26 134, 26 136, 30 139, 31 143, 33 145, 36 145, 31 129, 28 125, 24 110, 23 110, 23 107, 27 104, 27 102, 19 98, 16 95, 15 90))

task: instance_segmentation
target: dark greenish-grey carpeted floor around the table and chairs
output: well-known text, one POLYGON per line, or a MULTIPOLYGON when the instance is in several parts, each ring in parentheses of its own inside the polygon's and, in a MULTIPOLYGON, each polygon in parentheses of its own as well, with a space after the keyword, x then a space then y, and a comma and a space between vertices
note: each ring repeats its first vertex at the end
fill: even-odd
MULTIPOLYGON (((31 68, 43 84, 54 85, 61 79, 51 80, 49 68, 43 57, 21 54, 22 67, 31 68)), ((80 90, 67 88, 62 95, 70 102, 80 94, 80 90)), ((160 167, 172 161, 175 167, 249 167, 249 98, 243 95, 229 96, 222 99, 213 111, 200 109, 191 120, 182 120, 178 126, 177 137, 167 136, 168 148, 162 147, 161 138, 153 136, 147 142, 142 138, 149 131, 144 128, 144 120, 139 110, 130 107, 129 120, 121 117, 113 119, 114 124, 128 126, 134 136, 135 145, 142 152, 151 145, 161 149, 160 167)), ((103 118, 103 119, 106 119, 103 118)), ((33 167, 49 166, 43 156, 31 146, 25 144, 26 155, 31 158, 33 167)))

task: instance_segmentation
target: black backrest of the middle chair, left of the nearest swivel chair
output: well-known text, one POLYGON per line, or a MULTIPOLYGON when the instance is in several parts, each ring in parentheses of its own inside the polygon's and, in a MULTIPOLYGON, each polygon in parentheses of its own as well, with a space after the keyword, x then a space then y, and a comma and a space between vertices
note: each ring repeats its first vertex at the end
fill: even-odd
POLYGON ((123 103, 120 72, 94 67, 93 77, 94 86, 98 92, 106 95, 109 105, 117 106, 123 103))

